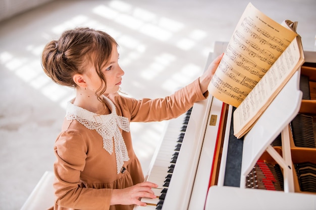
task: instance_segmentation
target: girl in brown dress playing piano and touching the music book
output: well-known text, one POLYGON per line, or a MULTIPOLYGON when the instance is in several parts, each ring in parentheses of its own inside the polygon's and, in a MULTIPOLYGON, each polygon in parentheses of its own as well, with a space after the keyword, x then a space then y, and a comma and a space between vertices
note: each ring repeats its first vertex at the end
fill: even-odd
POLYGON ((124 72, 117 47, 107 33, 76 28, 43 50, 46 75, 76 90, 54 147, 54 209, 132 209, 146 205, 139 198, 154 198, 157 185, 144 182, 129 123, 175 118, 205 99, 222 58, 169 97, 136 100, 118 93, 124 72))

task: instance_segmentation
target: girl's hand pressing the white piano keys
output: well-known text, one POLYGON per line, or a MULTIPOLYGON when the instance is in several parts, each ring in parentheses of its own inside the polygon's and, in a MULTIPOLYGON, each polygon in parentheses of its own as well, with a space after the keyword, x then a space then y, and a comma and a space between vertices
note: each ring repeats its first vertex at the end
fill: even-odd
POLYGON ((158 185, 152 182, 142 182, 125 189, 113 189, 110 205, 131 205, 136 204, 140 206, 146 206, 146 203, 141 202, 139 198, 155 198, 152 187, 157 187, 158 185))

